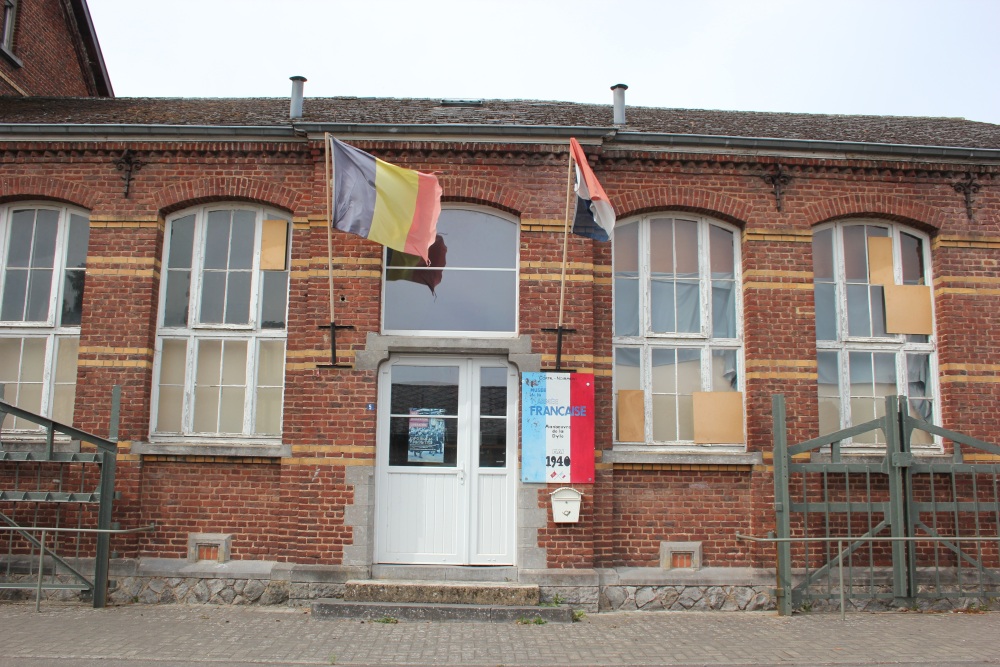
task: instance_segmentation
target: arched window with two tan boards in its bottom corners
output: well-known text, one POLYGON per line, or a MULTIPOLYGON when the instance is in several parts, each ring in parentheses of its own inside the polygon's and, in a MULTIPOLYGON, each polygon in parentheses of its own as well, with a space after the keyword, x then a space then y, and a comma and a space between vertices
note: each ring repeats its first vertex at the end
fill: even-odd
POLYGON ((739 285, 729 225, 677 213, 617 225, 618 443, 743 446, 739 285), (713 421, 728 428, 713 431, 713 421))

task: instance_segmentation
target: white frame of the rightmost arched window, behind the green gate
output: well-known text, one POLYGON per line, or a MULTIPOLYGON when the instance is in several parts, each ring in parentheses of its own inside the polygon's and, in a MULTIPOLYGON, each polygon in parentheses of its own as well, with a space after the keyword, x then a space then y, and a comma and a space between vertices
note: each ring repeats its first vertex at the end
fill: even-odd
MULTIPOLYGON (((926 354, 929 356, 929 368, 928 368, 928 389, 930 390, 930 396, 933 405, 933 420, 932 423, 935 425, 941 424, 941 393, 938 375, 938 358, 937 358, 937 318, 934 315, 934 300, 931 299, 931 317, 934 324, 934 333, 929 335, 927 342, 914 342, 906 339, 905 334, 886 334, 885 336, 851 336, 849 334, 848 328, 848 312, 847 312, 847 270, 846 270, 846 259, 844 257, 844 241, 843 241, 843 230, 845 227, 863 226, 868 225, 872 227, 881 227, 889 231, 888 238, 892 239, 892 267, 893 267, 893 282, 896 285, 903 284, 903 265, 902 265, 902 240, 901 235, 906 233, 907 235, 914 237, 920 241, 921 251, 923 253, 923 264, 924 264, 924 285, 933 286, 933 279, 931 273, 931 244, 930 239, 927 234, 920 232, 913 227, 903 225, 900 223, 890 222, 887 220, 871 219, 871 218, 850 218, 845 220, 838 220, 836 222, 826 223, 823 225, 818 225, 813 229, 813 235, 815 236, 818 232, 822 232, 827 229, 833 230, 833 271, 834 271, 834 290, 835 290, 835 303, 836 303, 836 317, 834 319, 837 337, 836 340, 816 340, 816 352, 817 354, 822 352, 837 352, 838 353, 838 367, 837 367, 837 378, 839 382, 839 397, 840 397, 840 428, 848 428, 854 425, 854 420, 851 415, 851 382, 850 382, 850 353, 851 352, 877 352, 877 353, 891 353, 895 356, 895 378, 896 378, 896 393, 906 395, 907 392, 901 388, 905 388, 908 384, 907 378, 907 366, 906 357, 908 354, 926 354)), ((867 237, 866 237, 867 238, 867 237)), ((866 258, 867 264, 867 258, 866 258)), ((860 284, 860 283, 858 283, 860 284)), ((865 283, 870 285, 871 283, 865 283)), ((881 412, 881 410, 879 411, 881 412)), ((860 422, 863 423, 863 422, 860 422)), ((880 440, 884 439, 882 433, 878 433, 877 436, 880 440)), ((884 450, 884 445, 873 445, 871 443, 856 443, 853 441, 844 441, 841 443, 845 446, 850 446, 853 451, 858 453, 878 453, 884 450)), ((933 444, 921 445, 914 443, 913 449, 926 449, 933 451, 940 451, 941 449, 941 439, 938 436, 933 436, 933 444)))

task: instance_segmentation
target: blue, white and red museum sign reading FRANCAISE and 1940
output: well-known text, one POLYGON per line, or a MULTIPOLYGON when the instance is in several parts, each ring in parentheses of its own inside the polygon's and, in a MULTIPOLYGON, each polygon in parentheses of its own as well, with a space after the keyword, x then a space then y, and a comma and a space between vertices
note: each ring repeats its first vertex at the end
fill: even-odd
POLYGON ((594 481, 593 373, 521 374, 521 481, 594 481))

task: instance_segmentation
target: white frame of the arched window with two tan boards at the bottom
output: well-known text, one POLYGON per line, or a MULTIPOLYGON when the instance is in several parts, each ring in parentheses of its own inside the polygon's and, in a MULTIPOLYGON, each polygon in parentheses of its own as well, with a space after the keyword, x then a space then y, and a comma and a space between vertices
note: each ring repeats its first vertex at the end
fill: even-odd
MULTIPOLYGON (((638 282, 639 282, 639 334, 620 336, 614 332, 612 338, 612 365, 615 363, 618 348, 639 350, 640 385, 644 395, 645 442, 618 441, 618 389, 613 387, 614 395, 614 448, 621 451, 665 451, 665 452, 703 452, 711 449, 713 452, 745 452, 746 443, 696 444, 693 440, 656 441, 653 439, 653 391, 652 391, 652 356, 654 350, 698 349, 701 355, 699 391, 712 391, 712 352, 717 350, 735 350, 736 352, 736 391, 745 392, 744 343, 743 343, 743 276, 742 276, 742 243, 740 229, 721 220, 703 215, 691 215, 680 211, 658 211, 637 218, 619 221, 616 230, 626 225, 640 225, 638 246, 638 282), (650 221, 654 219, 672 219, 692 221, 698 225, 698 294, 700 330, 695 333, 657 333, 651 330, 651 268, 650 268, 650 221), (733 292, 735 308, 735 338, 714 338, 712 336, 712 275, 709 238, 711 228, 719 227, 733 235, 733 292)), ((615 235, 617 238, 617 234, 615 235)), ((615 242, 615 241, 613 241, 615 242)), ((612 257, 615 253, 612 252, 612 257)), ((614 293, 614 276, 612 269, 612 292, 614 293)), ((617 298, 615 308, 617 309, 617 298)), ((616 325, 617 316, 613 316, 612 327, 616 325)), ((617 374, 613 373, 613 376, 617 374)), ((617 381, 613 381, 617 385, 617 381)), ((746 399, 742 418, 746 420, 746 399)), ((744 428, 745 431, 745 428, 744 428)))

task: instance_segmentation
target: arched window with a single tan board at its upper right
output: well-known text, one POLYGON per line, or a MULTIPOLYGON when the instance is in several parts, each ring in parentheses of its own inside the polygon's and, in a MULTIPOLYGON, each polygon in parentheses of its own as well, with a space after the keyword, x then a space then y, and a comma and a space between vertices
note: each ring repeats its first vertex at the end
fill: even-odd
POLYGON ((167 221, 154 440, 280 437, 290 227, 244 205, 167 221))

